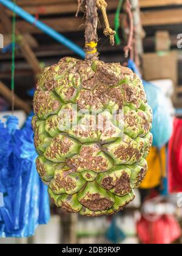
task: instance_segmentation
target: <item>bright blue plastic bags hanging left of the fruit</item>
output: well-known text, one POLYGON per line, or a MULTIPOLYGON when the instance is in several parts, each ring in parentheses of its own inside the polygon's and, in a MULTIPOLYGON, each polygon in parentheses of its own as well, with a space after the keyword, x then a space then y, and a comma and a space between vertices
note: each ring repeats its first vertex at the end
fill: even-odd
POLYGON ((0 236, 32 236, 38 224, 50 219, 47 187, 35 166, 31 118, 23 129, 17 126, 14 116, 8 117, 6 128, 0 124, 0 236))

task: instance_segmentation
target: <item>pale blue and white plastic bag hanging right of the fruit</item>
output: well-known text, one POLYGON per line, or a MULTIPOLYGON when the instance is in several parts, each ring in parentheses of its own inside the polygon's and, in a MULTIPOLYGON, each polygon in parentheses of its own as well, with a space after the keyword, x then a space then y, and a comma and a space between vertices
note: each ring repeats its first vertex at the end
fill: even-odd
MULTIPOLYGON (((140 72, 138 71, 133 60, 129 60, 128 67, 141 78, 140 72)), ((144 80, 143 85, 144 90, 146 91, 147 101, 153 111, 151 130, 153 135, 152 146, 162 148, 164 144, 169 141, 172 135, 173 118, 170 116, 167 108, 166 96, 162 93, 160 88, 144 80)))

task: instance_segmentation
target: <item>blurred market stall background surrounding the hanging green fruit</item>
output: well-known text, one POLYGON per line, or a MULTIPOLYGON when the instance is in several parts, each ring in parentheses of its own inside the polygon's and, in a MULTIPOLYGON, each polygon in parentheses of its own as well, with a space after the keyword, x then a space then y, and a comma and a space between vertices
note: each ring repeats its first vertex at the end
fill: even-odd
POLYGON ((15 119, 8 121, 4 118, 12 113, 12 28, 15 25, 12 10, 9 10, 8 4, 5 6, 5 2, 11 1, 0 1, 0 172, 4 172, 2 163, 5 159, 13 155, 11 161, 15 160, 15 163, 13 166, 10 163, 6 165, 6 180, 10 183, 2 185, 0 181, 0 243, 181 244, 182 0, 132 0, 130 13, 126 10, 125 0, 107 0, 110 26, 117 32, 115 46, 110 46, 109 38, 103 35, 103 18, 99 12, 100 59, 120 62, 140 74, 153 110, 153 146, 147 157, 149 171, 146 178, 135 191, 135 200, 122 212, 99 218, 62 212, 52 202, 49 207, 47 188, 42 185, 35 170, 36 153, 28 118, 41 70, 64 56, 81 59, 81 54, 69 49, 67 42, 63 45, 58 38, 52 38, 48 30, 40 30, 38 21, 84 48, 83 12, 75 18, 78 8, 76 0, 14 1, 33 15, 33 24, 20 15, 16 16, 14 113, 19 119, 19 124, 16 124, 15 119), (131 23, 132 51, 126 58, 124 46, 131 35, 131 23), (11 123, 11 128, 8 123, 11 123), (21 142, 13 137, 14 146, 11 146, 12 133, 7 133, 6 129, 8 132, 16 130, 16 138, 21 138, 21 142), (26 146, 22 149, 22 145, 26 146), (23 152, 19 154, 17 149, 23 152), (19 155, 23 155, 20 160, 19 155), (15 180, 12 179, 12 169, 15 180), (23 171, 18 172, 20 169, 23 171), (28 174, 30 179, 26 180, 28 174), (27 187, 22 189, 21 183, 27 187), (16 198, 12 197, 16 202, 12 210, 6 207, 11 202, 5 197, 6 189, 10 188, 12 194, 18 191, 16 198), (31 189, 36 191, 37 197, 31 189), (26 195, 22 199, 25 205, 19 202, 18 208, 22 193, 26 195), (41 208, 41 205, 44 207, 41 208), (29 220, 25 219, 27 208, 31 208, 29 220))

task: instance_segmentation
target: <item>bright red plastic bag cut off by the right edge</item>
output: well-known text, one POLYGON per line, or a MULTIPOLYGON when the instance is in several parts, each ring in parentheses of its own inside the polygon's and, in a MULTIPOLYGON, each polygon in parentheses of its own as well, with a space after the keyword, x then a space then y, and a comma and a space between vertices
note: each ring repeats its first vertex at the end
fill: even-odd
POLYGON ((182 119, 174 119, 174 132, 169 141, 169 192, 182 192, 182 119))

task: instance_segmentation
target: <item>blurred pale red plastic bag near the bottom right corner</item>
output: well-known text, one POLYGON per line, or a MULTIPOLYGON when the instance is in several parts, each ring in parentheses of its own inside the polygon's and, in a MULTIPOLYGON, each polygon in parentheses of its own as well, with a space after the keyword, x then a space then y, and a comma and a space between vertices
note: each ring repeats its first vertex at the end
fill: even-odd
POLYGON ((174 216, 169 215, 156 216, 155 221, 142 217, 136 229, 144 244, 171 244, 181 236, 180 225, 174 216))

